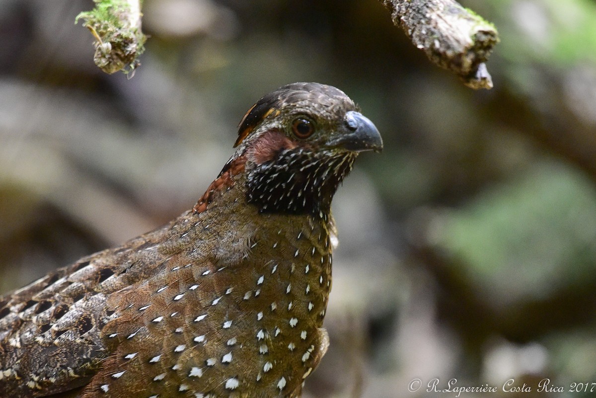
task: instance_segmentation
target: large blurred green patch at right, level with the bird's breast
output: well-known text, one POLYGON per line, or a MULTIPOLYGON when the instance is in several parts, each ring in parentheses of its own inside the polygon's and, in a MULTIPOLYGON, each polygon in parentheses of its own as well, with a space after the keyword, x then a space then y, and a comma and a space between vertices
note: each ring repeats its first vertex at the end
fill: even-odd
POLYGON ((486 299, 542 299, 596 281, 596 189, 541 162, 446 212, 436 242, 486 299))

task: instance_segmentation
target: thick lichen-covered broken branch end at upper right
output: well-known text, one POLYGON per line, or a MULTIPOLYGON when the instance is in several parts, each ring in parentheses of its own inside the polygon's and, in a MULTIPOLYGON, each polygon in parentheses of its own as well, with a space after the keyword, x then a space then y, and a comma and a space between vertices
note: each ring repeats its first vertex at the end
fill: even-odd
POLYGON ((468 87, 492 88, 485 62, 499 42, 493 24, 453 0, 380 0, 417 48, 468 87))

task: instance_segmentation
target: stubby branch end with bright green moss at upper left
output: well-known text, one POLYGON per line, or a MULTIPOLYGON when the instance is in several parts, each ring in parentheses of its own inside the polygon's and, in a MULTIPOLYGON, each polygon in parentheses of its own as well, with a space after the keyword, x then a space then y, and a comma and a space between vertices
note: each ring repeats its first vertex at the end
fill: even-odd
POLYGON ((95 64, 105 73, 134 71, 145 50, 141 0, 94 0, 95 8, 77 15, 95 37, 95 64))

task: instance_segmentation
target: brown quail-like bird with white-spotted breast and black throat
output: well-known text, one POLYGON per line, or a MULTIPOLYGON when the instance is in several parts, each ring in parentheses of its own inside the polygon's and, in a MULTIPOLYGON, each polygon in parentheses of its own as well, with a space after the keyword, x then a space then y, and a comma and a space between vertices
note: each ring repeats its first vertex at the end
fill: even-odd
POLYGON ((383 141, 340 89, 292 83, 234 148, 192 209, 0 297, 0 397, 301 396, 329 345, 331 200, 383 141))

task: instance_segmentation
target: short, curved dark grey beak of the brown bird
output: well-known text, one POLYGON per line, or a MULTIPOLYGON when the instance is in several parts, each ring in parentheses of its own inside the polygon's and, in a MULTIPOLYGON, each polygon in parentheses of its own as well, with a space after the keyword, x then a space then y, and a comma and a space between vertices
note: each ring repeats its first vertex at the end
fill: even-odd
POLYGON ((383 150, 383 139, 373 122, 359 112, 346 112, 344 117, 346 132, 332 138, 330 147, 342 147, 348 151, 362 152, 383 150))

